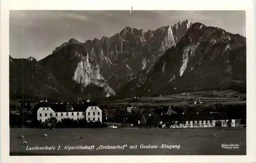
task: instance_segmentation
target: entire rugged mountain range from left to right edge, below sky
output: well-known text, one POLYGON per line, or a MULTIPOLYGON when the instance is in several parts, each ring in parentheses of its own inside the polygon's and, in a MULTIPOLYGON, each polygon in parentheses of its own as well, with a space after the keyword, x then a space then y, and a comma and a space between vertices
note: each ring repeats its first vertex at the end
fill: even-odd
POLYGON ((246 86, 246 38, 179 21, 155 31, 72 38, 37 61, 10 56, 11 98, 83 99, 246 86))

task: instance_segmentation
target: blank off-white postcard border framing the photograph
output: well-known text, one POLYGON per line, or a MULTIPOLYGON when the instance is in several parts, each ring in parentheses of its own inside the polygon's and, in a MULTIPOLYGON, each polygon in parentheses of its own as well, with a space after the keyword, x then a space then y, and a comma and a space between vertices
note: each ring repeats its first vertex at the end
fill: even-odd
MULTIPOLYGON (((247 0, 2 0, 1 2, 1 160, 2 162, 255 162, 255 17, 247 0), (9 10, 246 10, 246 156, 9 156, 9 10)), ((167 22, 166 22, 167 23, 167 22)))

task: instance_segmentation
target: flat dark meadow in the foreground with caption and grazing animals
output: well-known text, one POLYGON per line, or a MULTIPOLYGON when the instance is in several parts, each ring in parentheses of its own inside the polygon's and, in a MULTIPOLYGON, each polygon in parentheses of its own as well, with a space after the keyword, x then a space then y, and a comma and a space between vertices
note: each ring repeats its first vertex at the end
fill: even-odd
POLYGON ((108 128, 10 128, 10 155, 246 155, 246 128, 108 129, 108 128), (48 138, 42 138, 43 134, 48 138), (193 133, 197 137, 192 137, 193 133), (215 137, 211 136, 216 134, 215 137), (28 145, 17 139, 24 135, 28 145), (80 139, 84 137, 84 140, 80 139), (222 149, 222 143, 239 149, 222 149), (180 145, 179 149, 140 149, 140 145, 180 145), (91 146, 94 150, 64 150, 65 146, 91 146), (100 145, 127 145, 122 149, 96 150, 100 145), (137 149, 129 149, 138 145, 137 149), (55 146, 55 150, 26 150, 55 146), (61 146, 61 150, 57 150, 61 146))

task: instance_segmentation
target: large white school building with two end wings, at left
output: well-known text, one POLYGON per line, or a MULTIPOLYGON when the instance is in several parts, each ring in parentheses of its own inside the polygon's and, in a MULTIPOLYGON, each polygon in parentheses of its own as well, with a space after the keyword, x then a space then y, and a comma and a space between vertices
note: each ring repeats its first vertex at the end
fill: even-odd
POLYGON ((87 121, 101 121, 102 111, 98 105, 93 104, 90 100, 86 102, 54 102, 49 103, 47 100, 40 102, 33 108, 34 120, 45 122, 50 117, 56 117, 58 121, 65 118, 73 120, 86 119, 87 121))

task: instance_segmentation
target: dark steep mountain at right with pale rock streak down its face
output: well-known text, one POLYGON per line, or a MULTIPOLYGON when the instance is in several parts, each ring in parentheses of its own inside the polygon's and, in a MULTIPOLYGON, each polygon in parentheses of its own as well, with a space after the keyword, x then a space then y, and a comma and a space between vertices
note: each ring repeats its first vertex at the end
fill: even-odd
POLYGON ((228 89, 234 81, 246 85, 246 38, 194 23, 160 57, 137 93, 228 89))

